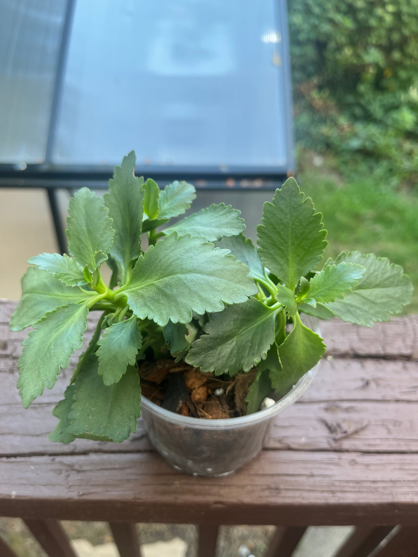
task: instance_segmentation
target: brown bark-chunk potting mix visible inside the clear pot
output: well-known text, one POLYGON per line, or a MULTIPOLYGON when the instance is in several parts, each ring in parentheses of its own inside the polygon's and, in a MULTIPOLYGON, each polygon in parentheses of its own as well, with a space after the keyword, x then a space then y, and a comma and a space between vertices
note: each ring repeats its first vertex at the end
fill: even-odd
POLYGON ((233 377, 202 373, 184 361, 139 362, 142 396, 154 404, 193 418, 220 419, 245 416, 248 394, 257 369, 233 377))

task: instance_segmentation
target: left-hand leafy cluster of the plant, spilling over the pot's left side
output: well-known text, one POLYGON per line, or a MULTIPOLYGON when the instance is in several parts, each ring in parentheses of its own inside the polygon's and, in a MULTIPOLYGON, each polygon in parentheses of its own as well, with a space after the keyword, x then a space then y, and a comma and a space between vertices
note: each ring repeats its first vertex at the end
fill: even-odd
POLYGON ((160 191, 153 180, 135 177, 134 168, 132 152, 115 168, 104 199, 80 189, 67 218, 71 257, 32 257, 28 263, 35 267, 22 278, 11 328, 33 326, 18 363, 25 407, 45 387, 54 387, 61 368, 81 348, 89 311, 103 311, 65 399, 54 410, 60 422, 52 441, 128 438, 140 415, 136 362, 148 348, 157 358, 167 351, 163 327, 169 321, 189 323, 193 314, 221 311, 257 292, 249 269, 207 241, 241 233, 240 212, 212 205, 157 233, 190 207, 195 188, 173 182, 160 191), (109 287, 100 271, 105 261, 113 270, 109 287))

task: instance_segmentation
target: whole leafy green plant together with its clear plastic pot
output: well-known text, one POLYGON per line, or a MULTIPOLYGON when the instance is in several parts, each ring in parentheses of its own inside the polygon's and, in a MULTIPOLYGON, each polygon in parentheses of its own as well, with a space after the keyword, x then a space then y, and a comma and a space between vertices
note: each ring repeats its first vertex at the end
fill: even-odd
POLYGON ((325 352, 317 319, 387 321, 412 285, 401 267, 359 252, 315 270, 327 232, 293 178, 264 204, 256 249, 240 212, 224 204, 168 225, 195 188, 160 190, 134 169, 132 152, 104 199, 88 188, 71 199, 70 257, 28 261, 11 320, 12 330, 33 327, 17 387, 24 407, 54 387, 81 348, 89 311, 100 310, 54 409, 51 441, 124 441, 142 407, 150 439, 174 467, 230 473, 260 451, 271 419, 312 380, 325 352))

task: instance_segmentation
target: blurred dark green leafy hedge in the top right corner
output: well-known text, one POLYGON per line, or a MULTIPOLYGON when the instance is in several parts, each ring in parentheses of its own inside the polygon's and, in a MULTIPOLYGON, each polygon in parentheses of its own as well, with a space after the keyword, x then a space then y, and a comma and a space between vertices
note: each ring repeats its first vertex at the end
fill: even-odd
POLYGON ((418 178, 416 0, 288 0, 297 140, 391 187, 418 178))

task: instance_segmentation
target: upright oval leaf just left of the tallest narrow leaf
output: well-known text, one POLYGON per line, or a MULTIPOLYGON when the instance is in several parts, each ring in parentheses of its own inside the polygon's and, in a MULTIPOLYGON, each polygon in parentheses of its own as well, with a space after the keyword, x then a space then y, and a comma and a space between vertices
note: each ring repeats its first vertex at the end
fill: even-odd
POLYGON ((81 188, 70 199, 67 217, 68 249, 82 267, 93 273, 113 243, 114 229, 103 199, 81 188), (99 253, 101 252, 101 253, 99 253))

